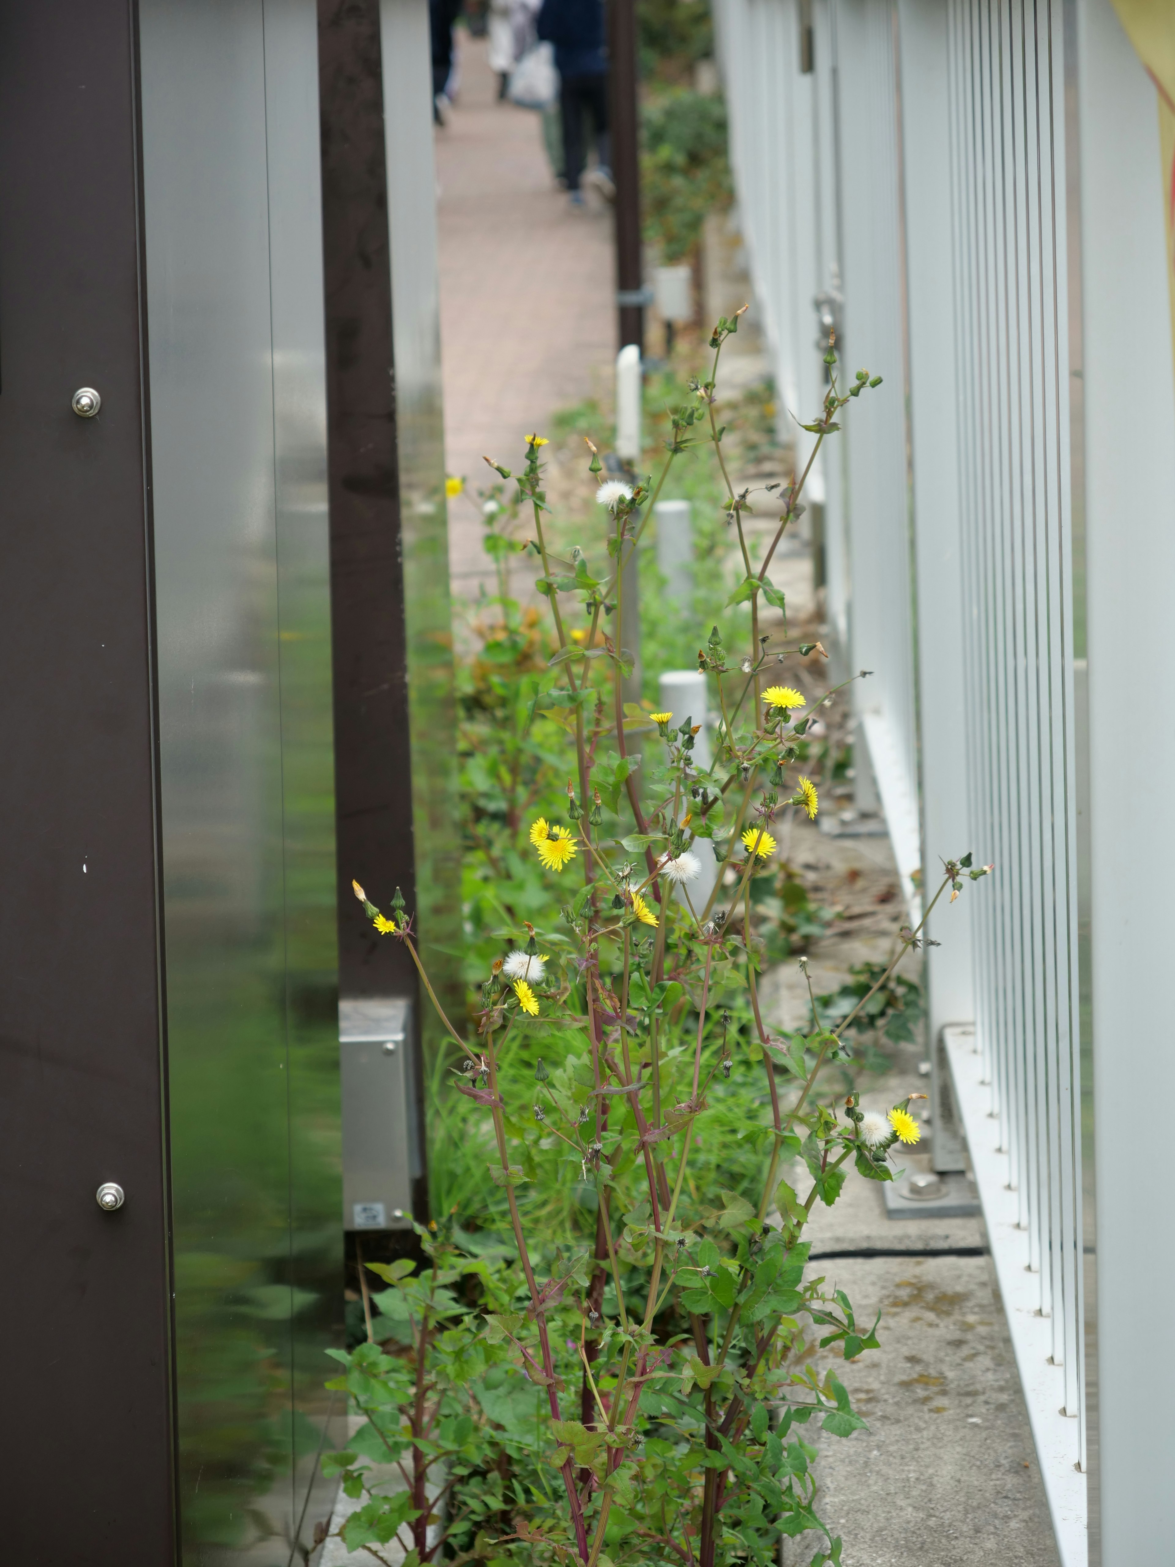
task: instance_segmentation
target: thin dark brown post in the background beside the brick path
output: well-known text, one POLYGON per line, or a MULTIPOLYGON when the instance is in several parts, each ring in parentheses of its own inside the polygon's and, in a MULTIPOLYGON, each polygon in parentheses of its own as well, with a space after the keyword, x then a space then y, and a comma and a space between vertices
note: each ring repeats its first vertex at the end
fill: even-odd
POLYGON ((613 179, 616 180, 616 302, 620 337, 644 354, 641 276, 641 119, 636 99, 636 0, 609 0, 609 92, 613 179))

